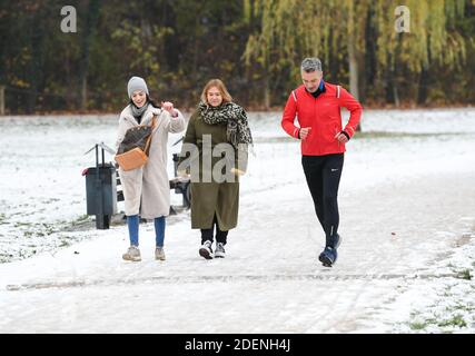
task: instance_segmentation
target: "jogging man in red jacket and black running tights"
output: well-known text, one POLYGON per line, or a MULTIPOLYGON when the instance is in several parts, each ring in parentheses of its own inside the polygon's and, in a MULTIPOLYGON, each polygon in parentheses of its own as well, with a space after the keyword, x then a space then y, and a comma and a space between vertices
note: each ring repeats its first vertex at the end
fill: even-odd
POLYGON ((301 165, 326 236, 325 249, 318 259, 331 267, 342 241, 337 196, 345 144, 355 134, 363 108, 344 88, 324 81, 318 58, 304 59, 300 69, 304 85, 289 95, 281 126, 300 140, 301 165), (342 107, 350 112, 345 128, 342 127, 342 107), (296 117, 298 127, 294 125, 296 117))

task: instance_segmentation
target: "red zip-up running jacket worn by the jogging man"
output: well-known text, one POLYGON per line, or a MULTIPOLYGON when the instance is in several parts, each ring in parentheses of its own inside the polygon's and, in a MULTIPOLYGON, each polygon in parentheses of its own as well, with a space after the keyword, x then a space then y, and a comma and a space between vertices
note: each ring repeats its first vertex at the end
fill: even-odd
POLYGON ((293 90, 284 109, 281 126, 284 130, 298 139, 299 127, 294 125, 295 118, 300 127, 311 127, 305 140, 300 141, 303 156, 324 156, 345 152, 345 144, 335 136, 342 131, 340 107, 349 110, 350 116, 344 131, 349 138, 355 134, 362 117, 362 105, 340 86, 324 81, 325 92, 317 98, 301 85, 293 90))

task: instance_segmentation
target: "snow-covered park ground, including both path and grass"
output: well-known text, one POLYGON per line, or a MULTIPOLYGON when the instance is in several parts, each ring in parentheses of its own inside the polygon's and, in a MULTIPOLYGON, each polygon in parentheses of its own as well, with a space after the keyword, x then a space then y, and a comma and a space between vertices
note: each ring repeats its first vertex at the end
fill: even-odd
POLYGON ((126 226, 85 216, 83 152, 113 146, 117 117, 1 118, 0 332, 474 333, 475 109, 365 111, 331 269, 279 119, 250 117, 256 156, 226 259, 198 256, 185 211, 167 220, 165 263, 145 224, 130 264, 126 226))

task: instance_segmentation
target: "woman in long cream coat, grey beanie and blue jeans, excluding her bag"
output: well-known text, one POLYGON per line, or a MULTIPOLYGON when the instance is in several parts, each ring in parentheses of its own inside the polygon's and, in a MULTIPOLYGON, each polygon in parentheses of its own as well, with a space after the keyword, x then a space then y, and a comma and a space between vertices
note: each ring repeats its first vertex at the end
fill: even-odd
POLYGON ((168 132, 185 129, 185 119, 171 102, 162 102, 159 108, 150 99, 147 83, 140 77, 130 78, 127 85, 130 103, 119 118, 119 132, 116 149, 128 129, 139 125, 151 126, 149 159, 144 167, 125 171, 119 168, 122 185, 130 247, 122 255, 126 260, 141 260, 139 250, 139 215, 154 219, 156 234, 155 258, 165 260, 165 217, 170 211, 170 184, 167 174, 168 132))

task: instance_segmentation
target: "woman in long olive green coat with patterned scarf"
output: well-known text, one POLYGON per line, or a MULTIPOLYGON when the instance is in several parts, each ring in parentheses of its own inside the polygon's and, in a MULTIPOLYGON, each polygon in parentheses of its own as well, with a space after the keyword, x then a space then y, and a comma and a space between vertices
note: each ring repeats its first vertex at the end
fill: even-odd
POLYGON ((221 80, 205 86, 180 155, 180 168, 189 165, 191 174, 191 228, 201 230, 199 255, 206 259, 225 257, 228 231, 238 221, 239 176, 246 171, 253 144, 246 111, 231 100, 221 80), (190 147, 197 151, 188 157, 190 147))

